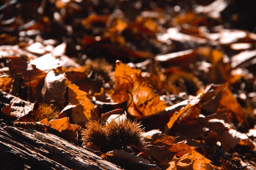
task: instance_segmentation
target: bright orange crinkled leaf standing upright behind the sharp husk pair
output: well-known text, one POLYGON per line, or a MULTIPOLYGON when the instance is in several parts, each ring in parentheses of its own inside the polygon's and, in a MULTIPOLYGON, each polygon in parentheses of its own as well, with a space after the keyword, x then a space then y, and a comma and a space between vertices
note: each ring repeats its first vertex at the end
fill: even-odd
POLYGON ((117 62, 115 88, 111 93, 115 102, 131 102, 128 112, 134 117, 153 115, 166 108, 164 101, 160 100, 159 95, 155 95, 140 73, 141 71, 117 62))

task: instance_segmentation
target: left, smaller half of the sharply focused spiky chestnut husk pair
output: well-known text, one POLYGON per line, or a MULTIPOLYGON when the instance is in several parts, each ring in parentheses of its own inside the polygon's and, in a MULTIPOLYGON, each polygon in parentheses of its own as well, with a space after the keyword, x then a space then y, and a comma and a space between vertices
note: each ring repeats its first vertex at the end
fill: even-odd
POLYGON ((85 129, 81 129, 83 145, 87 146, 92 143, 99 150, 108 148, 107 133, 99 121, 88 121, 85 124, 85 129))

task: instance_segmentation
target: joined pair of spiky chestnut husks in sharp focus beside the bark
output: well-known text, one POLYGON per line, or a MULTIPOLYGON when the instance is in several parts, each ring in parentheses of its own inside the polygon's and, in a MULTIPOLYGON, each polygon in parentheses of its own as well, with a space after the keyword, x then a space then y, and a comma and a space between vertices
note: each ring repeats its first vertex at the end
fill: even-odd
POLYGON ((83 145, 92 143, 102 152, 114 149, 130 150, 130 146, 137 146, 141 150, 146 147, 141 124, 129 119, 112 120, 105 126, 99 121, 88 121, 86 129, 81 130, 83 145))

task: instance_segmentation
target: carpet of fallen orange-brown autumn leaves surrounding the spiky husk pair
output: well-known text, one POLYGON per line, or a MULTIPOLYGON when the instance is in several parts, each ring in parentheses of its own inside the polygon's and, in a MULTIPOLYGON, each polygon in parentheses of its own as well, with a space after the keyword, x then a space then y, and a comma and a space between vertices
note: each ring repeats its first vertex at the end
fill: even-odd
POLYGON ((101 154, 120 166, 255 169, 253 7, 237 0, 4 0, 0 119, 81 145, 85 124, 125 113, 141 122, 150 146, 101 154))

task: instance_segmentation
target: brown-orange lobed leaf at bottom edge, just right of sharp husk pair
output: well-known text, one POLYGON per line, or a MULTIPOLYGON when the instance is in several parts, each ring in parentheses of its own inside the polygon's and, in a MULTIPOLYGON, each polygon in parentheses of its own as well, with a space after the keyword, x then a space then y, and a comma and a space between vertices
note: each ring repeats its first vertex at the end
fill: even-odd
POLYGON ((213 166, 211 161, 197 152, 195 147, 186 144, 186 141, 175 143, 177 137, 165 134, 156 134, 152 137, 151 144, 147 151, 150 157, 157 159, 160 164, 170 164, 171 167, 185 168, 193 170, 213 170, 220 167, 213 166), (179 158, 177 158, 179 157, 179 158), (175 161, 175 165, 170 163, 175 161))

